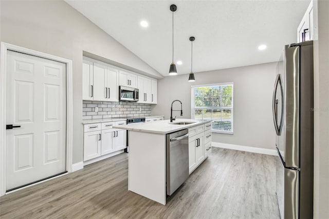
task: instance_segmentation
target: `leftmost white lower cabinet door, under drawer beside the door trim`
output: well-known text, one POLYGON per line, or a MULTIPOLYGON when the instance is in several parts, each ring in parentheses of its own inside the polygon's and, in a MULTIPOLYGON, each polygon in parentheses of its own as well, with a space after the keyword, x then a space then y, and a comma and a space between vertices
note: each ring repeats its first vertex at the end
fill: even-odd
POLYGON ((83 142, 84 161, 101 156, 101 131, 85 132, 83 142))

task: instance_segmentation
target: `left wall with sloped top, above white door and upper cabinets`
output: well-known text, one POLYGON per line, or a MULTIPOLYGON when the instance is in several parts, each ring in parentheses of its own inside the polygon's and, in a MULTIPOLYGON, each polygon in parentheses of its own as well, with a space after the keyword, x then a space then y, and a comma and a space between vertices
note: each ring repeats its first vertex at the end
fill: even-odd
MULTIPOLYGON (((121 67, 161 75, 64 1, 0 1, 0 40, 73 61, 73 162, 82 161, 83 51, 121 67)), ((104 61, 104 60, 102 60, 104 61)))

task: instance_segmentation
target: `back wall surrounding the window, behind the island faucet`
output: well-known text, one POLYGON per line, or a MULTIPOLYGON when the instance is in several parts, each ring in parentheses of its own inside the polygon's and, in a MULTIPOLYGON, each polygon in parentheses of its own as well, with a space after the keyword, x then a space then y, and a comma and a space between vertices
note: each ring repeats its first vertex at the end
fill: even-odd
MULTIPOLYGON (((283 47, 282 47, 283 49, 283 47)), ((278 57, 279 59, 279 57, 278 57)), ((234 83, 234 134, 213 133, 212 141, 275 149, 275 129, 272 119, 272 92, 276 79, 276 63, 251 65, 214 70, 195 74, 195 82, 188 82, 189 75, 166 77, 158 80, 158 104, 152 114, 170 118, 173 100, 182 101, 183 115, 191 117, 191 85, 234 83)), ((175 102, 174 109, 180 109, 175 102)), ((173 117, 174 117, 173 116, 173 117)))

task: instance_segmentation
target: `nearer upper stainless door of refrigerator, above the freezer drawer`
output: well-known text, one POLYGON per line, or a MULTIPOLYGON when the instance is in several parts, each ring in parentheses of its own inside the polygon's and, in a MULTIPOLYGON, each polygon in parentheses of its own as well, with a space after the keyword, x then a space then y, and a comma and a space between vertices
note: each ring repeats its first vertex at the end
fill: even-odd
POLYGON ((299 168, 300 46, 285 46, 285 167, 299 168))

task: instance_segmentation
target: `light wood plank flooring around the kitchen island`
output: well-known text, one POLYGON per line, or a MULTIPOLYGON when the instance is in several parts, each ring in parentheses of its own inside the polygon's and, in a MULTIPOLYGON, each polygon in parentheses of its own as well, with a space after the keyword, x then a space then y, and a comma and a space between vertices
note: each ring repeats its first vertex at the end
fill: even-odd
POLYGON ((126 153, 0 198, 1 218, 280 218, 275 157, 212 148, 163 206, 127 190, 126 153))

